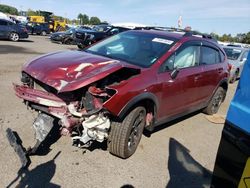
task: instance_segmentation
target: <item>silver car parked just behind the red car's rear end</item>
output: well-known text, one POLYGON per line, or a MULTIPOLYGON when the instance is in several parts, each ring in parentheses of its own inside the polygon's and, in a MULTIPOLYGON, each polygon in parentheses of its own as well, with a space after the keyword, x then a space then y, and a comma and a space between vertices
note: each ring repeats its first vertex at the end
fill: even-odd
POLYGON ((230 66, 230 83, 234 83, 237 78, 240 78, 243 66, 247 60, 249 49, 239 47, 223 47, 228 58, 230 66))

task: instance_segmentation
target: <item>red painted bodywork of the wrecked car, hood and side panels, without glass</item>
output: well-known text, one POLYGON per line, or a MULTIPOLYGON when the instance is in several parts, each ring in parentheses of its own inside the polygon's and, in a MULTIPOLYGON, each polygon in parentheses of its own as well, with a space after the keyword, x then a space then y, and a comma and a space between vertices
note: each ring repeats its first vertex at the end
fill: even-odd
MULTIPOLYGON (((222 84, 222 81, 224 83, 227 82, 228 67, 227 63, 225 63, 226 59, 223 59, 222 63, 219 64, 180 69, 175 79, 171 77, 171 72, 169 71, 159 73, 163 62, 186 42, 206 41, 221 50, 211 40, 199 39, 197 37, 182 37, 182 35, 169 34, 167 32, 141 32, 170 35, 179 41, 149 68, 137 67, 123 61, 82 51, 66 51, 48 54, 35 59, 23 67, 23 72, 55 88, 58 93, 64 93, 88 86, 124 67, 140 70, 140 73, 128 80, 107 86, 116 92, 103 103, 103 107, 112 115, 120 116, 126 110, 126 106, 137 96, 150 94, 154 96, 154 102, 157 103, 155 104, 156 110, 154 112, 156 122, 205 107, 213 93, 222 84)), ((32 99, 28 99, 24 95, 21 96, 21 89, 17 88, 24 86, 15 87, 17 96, 28 101, 37 102, 35 96, 31 97, 32 99)), ((99 92, 95 89, 91 91, 99 92)), ((36 96, 40 95, 39 91, 34 91, 33 93, 36 96)), ((49 96, 49 94, 47 95, 49 96)), ((42 96, 45 97, 44 95, 42 96)), ((142 98, 142 100, 144 99, 151 100, 151 98, 147 97, 142 98)), ((57 101, 57 97, 55 97, 55 101, 57 101)))

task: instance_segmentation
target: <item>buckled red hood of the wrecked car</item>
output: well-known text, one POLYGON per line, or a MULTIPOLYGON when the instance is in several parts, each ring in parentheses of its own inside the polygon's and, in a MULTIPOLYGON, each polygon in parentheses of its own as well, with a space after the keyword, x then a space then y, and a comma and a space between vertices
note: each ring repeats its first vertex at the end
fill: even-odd
POLYGON ((60 51, 26 63, 23 71, 59 92, 73 91, 123 68, 125 62, 83 51, 60 51))

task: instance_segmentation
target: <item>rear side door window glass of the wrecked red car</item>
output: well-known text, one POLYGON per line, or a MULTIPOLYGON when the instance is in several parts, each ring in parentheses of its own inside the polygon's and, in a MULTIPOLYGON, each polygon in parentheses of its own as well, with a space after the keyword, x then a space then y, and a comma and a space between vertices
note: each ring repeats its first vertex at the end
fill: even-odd
POLYGON ((201 47, 201 65, 212 65, 220 63, 220 53, 218 50, 208 47, 201 47))

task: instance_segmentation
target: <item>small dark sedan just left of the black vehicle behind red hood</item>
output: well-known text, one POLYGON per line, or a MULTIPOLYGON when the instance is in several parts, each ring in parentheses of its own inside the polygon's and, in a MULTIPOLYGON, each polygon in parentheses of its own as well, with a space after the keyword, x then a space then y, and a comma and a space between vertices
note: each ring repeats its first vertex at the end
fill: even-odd
POLYGON ((65 32, 55 32, 50 35, 50 40, 52 42, 58 42, 62 44, 76 44, 75 37, 75 28, 69 29, 65 32))

